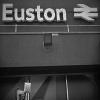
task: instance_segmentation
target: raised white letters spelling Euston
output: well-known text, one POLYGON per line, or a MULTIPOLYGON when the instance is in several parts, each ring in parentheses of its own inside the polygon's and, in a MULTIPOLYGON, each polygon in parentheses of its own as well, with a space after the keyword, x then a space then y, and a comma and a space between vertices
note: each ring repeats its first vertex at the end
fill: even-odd
POLYGON ((2 20, 6 22, 33 22, 35 19, 38 22, 52 22, 55 19, 57 19, 57 22, 60 22, 61 20, 66 22, 67 20, 66 10, 64 8, 56 9, 56 11, 52 8, 43 10, 40 5, 38 5, 35 9, 21 8, 19 10, 18 8, 13 8, 13 4, 3 4, 2 7, 2 20))

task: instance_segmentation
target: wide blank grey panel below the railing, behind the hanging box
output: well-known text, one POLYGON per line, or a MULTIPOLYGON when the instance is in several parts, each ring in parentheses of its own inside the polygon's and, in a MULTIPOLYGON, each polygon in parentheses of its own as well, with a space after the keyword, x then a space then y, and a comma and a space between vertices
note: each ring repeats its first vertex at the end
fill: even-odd
POLYGON ((59 35, 45 52, 42 35, 1 35, 0 66, 100 64, 99 45, 99 34, 59 35))

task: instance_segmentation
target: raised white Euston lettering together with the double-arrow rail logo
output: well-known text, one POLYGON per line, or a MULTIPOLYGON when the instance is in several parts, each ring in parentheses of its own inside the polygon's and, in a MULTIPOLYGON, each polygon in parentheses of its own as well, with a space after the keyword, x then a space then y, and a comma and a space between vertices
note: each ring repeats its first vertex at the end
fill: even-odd
MULTIPOLYGON (((90 8, 84 4, 78 4, 77 6, 79 8, 74 8, 73 10, 74 18, 82 18, 86 21, 93 22, 94 18, 98 17, 97 8, 90 8)), ((13 4, 3 4, 2 9, 2 20, 4 22, 34 22, 35 19, 37 19, 38 22, 52 22, 55 20, 55 18, 57 22, 67 21, 67 11, 64 8, 56 9, 55 11, 52 8, 47 8, 44 10, 40 7, 40 5, 38 5, 35 9, 28 8, 25 10, 24 8, 21 8, 18 10, 17 8, 13 7, 13 4), (41 14, 43 14, 43 17, 41 14), (61 20, 61 14, 63 15, 63 20, 61 20)))

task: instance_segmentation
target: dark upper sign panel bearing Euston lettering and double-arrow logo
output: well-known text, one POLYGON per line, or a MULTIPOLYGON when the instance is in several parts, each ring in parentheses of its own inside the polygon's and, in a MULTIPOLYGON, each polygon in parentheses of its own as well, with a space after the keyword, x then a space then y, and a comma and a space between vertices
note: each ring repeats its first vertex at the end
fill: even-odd
POLYGON ((40 22, 43 24, 61 23, 64 25, 66 23, 68 25, 78 23, 85 24, 86 22, 93 22, 93 24, 97 24, 100 22, 99 4, 100 1, 98 0, 77 0, 76 2, 73 2, 73 0, 21 0, 20 2, 14 0, 1 0, 0 25, 33 25, 39 24, 40 22))

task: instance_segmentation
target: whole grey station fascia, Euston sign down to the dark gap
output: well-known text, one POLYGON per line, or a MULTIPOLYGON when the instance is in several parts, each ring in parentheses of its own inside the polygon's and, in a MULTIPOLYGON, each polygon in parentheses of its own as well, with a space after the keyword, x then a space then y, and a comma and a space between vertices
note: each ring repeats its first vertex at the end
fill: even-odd
POLYGON ((0 0, 0 67, 100 64, 99 33, 100 0, 0 0))

